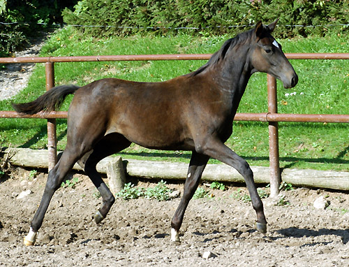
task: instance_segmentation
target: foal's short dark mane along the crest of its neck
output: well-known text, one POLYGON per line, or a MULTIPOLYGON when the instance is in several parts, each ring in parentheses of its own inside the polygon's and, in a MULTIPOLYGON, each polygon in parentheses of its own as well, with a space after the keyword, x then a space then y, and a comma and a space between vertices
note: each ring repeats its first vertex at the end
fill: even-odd
POLYGON ((214 55, 211 56, 211 58, 205 65, 200 66, 200 68, 198 68, 196 71, 189 73, 188 75, 190 75, 190 77, 193 77, 205 71, 205 69, 208 68, 209 66, 212 66, 217 64, 218 62, 221 62, 221 60, 225 58, 225 55, 227 54, 230 48, 234 48, 237 45, 241 45, 242 43, 245 43, 250 38, 253 31, 254 29, 251 29, 249 31, 244 31, 241 34, 238 34, 237 36, 235 36, 234 38, 230 38, 227 41, 225 41, 222 47, 217 52, 215 52, 214 55))

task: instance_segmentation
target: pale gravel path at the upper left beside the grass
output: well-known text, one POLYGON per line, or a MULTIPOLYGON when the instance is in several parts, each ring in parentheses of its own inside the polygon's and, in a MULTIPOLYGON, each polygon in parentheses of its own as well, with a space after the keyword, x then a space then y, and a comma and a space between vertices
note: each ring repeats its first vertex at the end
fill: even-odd
MULTIPOLYGON (((15 52, 15 57, 38 57, 38 53, 47 39, 47 34, 31 40, 31 45, 26 50, 15 52)), ((10 99, 22 89, 27 87, 35 64, 17 63, 7 64, 0 71, 0 100, 10 99)))

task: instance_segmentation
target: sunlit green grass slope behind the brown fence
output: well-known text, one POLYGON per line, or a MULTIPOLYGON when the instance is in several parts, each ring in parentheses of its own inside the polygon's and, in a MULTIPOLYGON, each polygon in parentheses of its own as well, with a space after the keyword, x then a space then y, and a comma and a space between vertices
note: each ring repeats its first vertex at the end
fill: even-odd
MULTIPOLYGON (((213 53, 231 36, 197 37, 133 36, 128 38, 84 38, 72 29, 58 31, 43 47, 40 56, 77 55, 142 55, 176 53, 213 53)), ((284 52, 348 52, 346 36, 328 34, 324 38, 279 40, 284 52)), ((348 60, 292 60, 299 75, 299 84, 284 89, 278 81, 279 113, 349 114, 348 60)), ((54 66, 56 85, 85 85, 93 80, 115 77, 137 81, 162 81, 183 75, 205 64, 205 61, 155 62, 80 62, 57 63, 54 66)), ((252 76, 238 112, 267 112, 267 83, 264 73, 252 76)), ((29 85, 10 101, 0 101, 0 110, 12 110, 10 102, 36 99, 45 92, 45 69, 37 64, 29 85)), ((64 103, 67 110, 71 97, 64 103)), ((16 147, 45 148, 45 120, 0 119, 0 144, 16 147)), ((279 123, 281 167, 314 169, 349 169, 348 124, 279 123)), ((57 120, 58 148, 66 145, 66 120, 57 120)), ((268 127, 262 122, 235 122, 227 141, 237 154, 251 165, 269 166, 268 127)), ((185 161, 189 152, 147 150, 131 145, 120 153, 125 158, 185 161)), ((218 161, 210 160, 210 163, 218 161)))

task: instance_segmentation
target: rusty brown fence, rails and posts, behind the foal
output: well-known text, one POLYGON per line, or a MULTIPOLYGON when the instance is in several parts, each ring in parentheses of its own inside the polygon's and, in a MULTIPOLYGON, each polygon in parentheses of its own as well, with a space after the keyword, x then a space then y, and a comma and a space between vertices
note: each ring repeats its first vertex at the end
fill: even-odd
MULTIPOLYGON (((288 59, 349 59, 349 53, 290 53, 288 59)), ((112 62, 112 61, 148 61, 148 60, 207 60, 211 54, 187 55, 110 55, 82 57, 12 57, 0 58, 0 63, 45 63, 46 89, 54 87, 55 62, 112 62)), ((279 168, 279 130, 278 122, 349 122, 349 115, 324 114, 279 114, 277 113, 276 79, 267 75, 268 112, 237 113, 235 120, 259 121, 269 123, 269 167, 271 195, 279 194, 281 174, 279 168)), ((20 115, 15 111, 0 111, 0 118, 40 118, 47 119, 47 147, 49 151, 49 170, 57 161, 56 119, 66 118, 64 111, 20 115)))

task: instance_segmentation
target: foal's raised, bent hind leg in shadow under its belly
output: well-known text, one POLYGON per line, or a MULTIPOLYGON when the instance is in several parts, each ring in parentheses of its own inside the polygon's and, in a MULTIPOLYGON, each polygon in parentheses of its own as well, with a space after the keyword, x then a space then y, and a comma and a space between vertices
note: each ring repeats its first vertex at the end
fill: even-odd
POLYGON ((99 224, 109 212, 115 199, 110 189, 105 185, 101 175, 96 170, 96 165, 101 159, 104 159, 111 154, 124 150, 131 145, 131 142, 119 133, 110 133, 103 137, 95 146, 93 152, 89 155, 86 163, 84 164, 84 171, 94 183, 98 192, 100 192, 103 204, 102 208, 96 212, 94 217, 95 222, 99 224))

